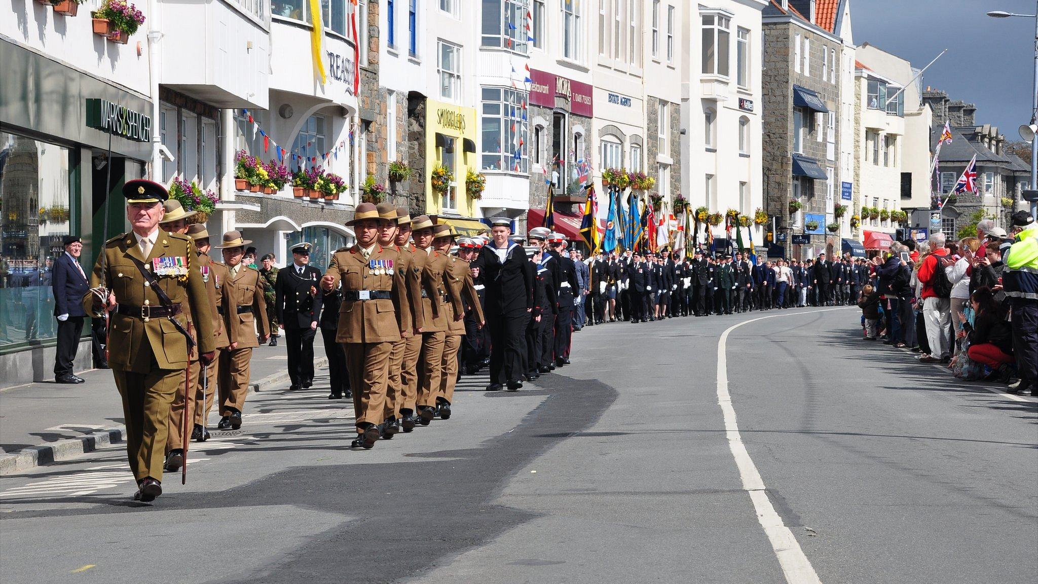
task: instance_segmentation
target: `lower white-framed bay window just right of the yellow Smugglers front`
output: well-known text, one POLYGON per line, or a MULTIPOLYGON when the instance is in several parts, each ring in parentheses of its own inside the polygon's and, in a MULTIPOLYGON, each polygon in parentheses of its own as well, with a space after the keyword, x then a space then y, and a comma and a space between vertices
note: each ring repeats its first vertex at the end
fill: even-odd
MULTIPOLYGON (((526 94, 507 87, 484 87, 482 90, 483 160, 487 170, 529 172, 529 126, 522 108, 526 94)), ((541 134, 535 131, 535 156, 541 156, 541 134)))

